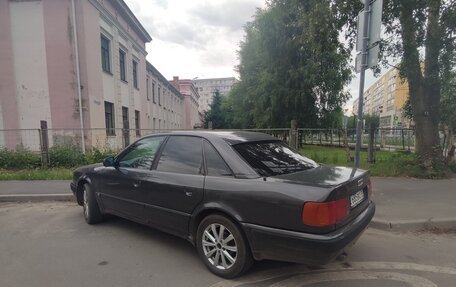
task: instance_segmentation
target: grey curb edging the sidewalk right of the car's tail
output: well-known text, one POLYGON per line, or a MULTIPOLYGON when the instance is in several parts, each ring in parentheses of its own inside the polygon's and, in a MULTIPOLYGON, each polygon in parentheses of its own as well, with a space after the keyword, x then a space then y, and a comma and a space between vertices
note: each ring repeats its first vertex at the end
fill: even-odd
POLYGON ((427 220, 386 221, 373 219, 369 227, 397 232, 423 230, 456 230, 456 218, 429 218, 427 220))

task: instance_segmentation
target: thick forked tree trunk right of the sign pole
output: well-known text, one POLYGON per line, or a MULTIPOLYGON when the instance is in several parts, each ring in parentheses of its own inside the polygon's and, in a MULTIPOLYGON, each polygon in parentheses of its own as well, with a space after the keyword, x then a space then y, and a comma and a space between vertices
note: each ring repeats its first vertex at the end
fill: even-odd
POLYGON ((404 49, 402 74, 406 75, 409 85, 416 131, 416 153, 421 163, 428 169, 442 162, 439 141, 440 120, 440 78, 438 55, 441 48, 439 19, 439 0, 428 3, 426 27, 424 75, 421 72, 416 29, 413 19, 414 1, 404 0, 401 6, 400 22, 404 49))

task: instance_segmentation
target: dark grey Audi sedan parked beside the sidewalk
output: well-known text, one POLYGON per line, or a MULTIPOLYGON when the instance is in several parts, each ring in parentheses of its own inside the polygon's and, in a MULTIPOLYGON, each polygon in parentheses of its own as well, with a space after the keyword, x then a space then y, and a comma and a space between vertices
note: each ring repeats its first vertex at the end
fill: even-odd
POLYGON ((253 132, 147 136, 75 170, 71 189, 87 223, 113 214, 185 238, 224 278, 254 260, 325 264, 375 212, 369 172, 318 165, 253 132))

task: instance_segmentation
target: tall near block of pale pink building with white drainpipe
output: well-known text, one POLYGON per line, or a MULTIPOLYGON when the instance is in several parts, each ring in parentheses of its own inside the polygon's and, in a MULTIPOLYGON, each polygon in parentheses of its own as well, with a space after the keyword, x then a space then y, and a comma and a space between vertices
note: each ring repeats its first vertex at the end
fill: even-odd
MULTIPOLYGON (((74 133, 104 130, 107 106, 110 127, 149 127, 145 44, 152 39, 122 0, 2 0, 0 37, 0 130, 38 129, 43 120, 74 133)), ((0 146, 17 147, 21 137, 0 134, 0 146)))

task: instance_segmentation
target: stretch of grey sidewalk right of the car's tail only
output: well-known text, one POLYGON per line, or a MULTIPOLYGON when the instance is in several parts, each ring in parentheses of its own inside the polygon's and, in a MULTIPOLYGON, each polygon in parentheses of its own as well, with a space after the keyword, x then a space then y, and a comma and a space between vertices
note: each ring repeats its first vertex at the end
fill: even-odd
POLYGON ((456 179, 373 177, 373 228, 456 229, 456 179))

